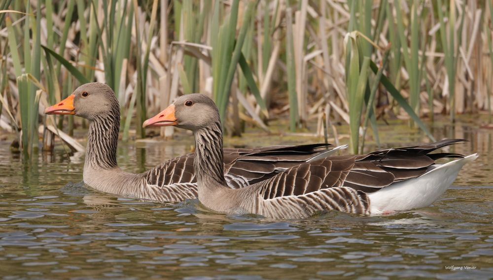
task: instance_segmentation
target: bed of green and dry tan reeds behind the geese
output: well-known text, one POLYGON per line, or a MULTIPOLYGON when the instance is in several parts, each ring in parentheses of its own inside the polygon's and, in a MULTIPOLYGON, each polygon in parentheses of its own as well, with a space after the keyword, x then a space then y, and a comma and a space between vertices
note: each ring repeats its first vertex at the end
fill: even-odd
POLYGON ((492 115, 492 18, 475 0, 0 0, 0 130, 26 159, 52 149, 49 128, 86 124, 44 107, 99 81, 123 140, 191 92, 214 99, 231 135, 286 117, 292 133, 337 138, 341 121, 361 152, 400 118, 432 139, 434 114, 492 115))

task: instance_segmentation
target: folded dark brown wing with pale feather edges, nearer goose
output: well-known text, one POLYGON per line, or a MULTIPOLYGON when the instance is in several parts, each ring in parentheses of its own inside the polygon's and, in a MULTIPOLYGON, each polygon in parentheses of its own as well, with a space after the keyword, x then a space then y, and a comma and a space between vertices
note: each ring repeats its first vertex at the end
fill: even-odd
POLYGON ((299 196, 321 189, 351 187, 364 193, 376 192, 394 182, 426 173, 436 159, 463 157, 455 153, 430 152, 464 140, 442 140, 422 146, 378 150, 366 155, 332 156, 287 169, 260 183, 264 199, 299 196))

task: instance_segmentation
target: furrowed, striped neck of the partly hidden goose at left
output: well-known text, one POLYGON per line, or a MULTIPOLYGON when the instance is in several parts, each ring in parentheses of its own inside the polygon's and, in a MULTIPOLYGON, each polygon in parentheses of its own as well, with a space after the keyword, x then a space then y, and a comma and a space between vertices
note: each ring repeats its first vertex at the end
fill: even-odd
POLYGON ((89 124, 86 165, 102 169, 118 166, 116 147, 119 129, 120 111, 118 108, 112 108, 108 114, 94 116, 89 124))

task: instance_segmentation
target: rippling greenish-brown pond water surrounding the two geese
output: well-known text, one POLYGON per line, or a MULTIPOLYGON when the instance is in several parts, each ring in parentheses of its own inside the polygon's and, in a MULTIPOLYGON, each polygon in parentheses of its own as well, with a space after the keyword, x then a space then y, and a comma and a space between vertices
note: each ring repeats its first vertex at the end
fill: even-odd
MULTIPOLYGON (((386 129, 388 146, 426 141, 419 133, 395 133, 391 127, 383 133, 386 129)), ((478 151, 480 157, 431 207, 385 216, 328 212, 288 221, 215 213, 197 200, 166 204, 99 193, 81 182, 83 157, 72 156, 69 162, 60 152, 24 166, 10 154, 8 143, 0 143, 0 276, 489 279, 492 134, 437 124, 437 139, 470 140, 450 151, 478 151)), ((121 146, 118 161, 125 171, 142 172, 189 152, 193 140, 180 138, 166 145, 142 141, 121 146)), ((272 136, 255 141, 248 145, 283 142, 272 136)))

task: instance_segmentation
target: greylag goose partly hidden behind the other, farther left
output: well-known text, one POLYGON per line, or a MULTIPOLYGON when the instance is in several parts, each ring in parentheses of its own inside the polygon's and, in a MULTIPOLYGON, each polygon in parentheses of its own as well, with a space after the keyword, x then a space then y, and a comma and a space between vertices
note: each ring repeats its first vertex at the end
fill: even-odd
MULTIPOLYGON (((83 171, 83 181, 90 187, 124 197, 155 201, 180 202, 197 198, 193 153, 169 160, 143 174, 127 173, 118 167, 116 147, 120 107, 114 92, 106 84, 81 85, 65 100, 46 108, 45 113, 71 114, 90 121, 83 171)), ((227 185, 243 187, 306 160, 327 156, 334 150, 322 149, 328 146, 313 144, 225 149, 227 185)))

